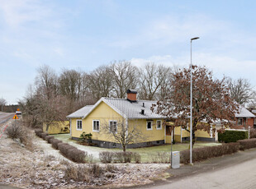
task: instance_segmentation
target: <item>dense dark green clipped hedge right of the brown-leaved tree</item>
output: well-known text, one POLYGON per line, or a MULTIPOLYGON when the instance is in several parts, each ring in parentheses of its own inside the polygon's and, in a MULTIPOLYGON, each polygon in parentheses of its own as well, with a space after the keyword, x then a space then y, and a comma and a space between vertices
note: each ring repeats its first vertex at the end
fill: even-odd
POLYGON ((239 140, 248 139, 248 131, 230 131, 225 130, 223 133, 218 133, 219 142, 236 142, 239 140))

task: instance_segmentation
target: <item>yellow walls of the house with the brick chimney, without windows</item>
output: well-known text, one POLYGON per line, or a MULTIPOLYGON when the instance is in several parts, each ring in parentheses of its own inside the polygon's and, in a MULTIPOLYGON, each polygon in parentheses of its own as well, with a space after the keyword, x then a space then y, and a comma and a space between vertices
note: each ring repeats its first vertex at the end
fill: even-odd
MULTIPOLYGON (((114 137, 111 134, 107 133, 107 128, 109 126, 110 120, 115 120, 117 122, 117 132, 120 131, 120 126, 118 124, 120 122, 126 122, 124 118, 121 117, 119 113, 116 113, 115 110, 113 110, 111 107, 109 107, 107 104, 102 102, 95 108, 92 113, 88 115, 87 118, 84 118, 82 120, 82 131, 77 130, 77 120, 81 120, 79 118, 73 118, 71 119, 71 135, 73 138, 79 138, 80 135, 85 131, 86 133, 92 133, 92 141, 95 141, 98 143, 98 145, 102 146, 101 143, 104 141, 107 142, 116 142, 114 137), (92 131, 92 120, 99 120, 100 121, 100 131, 92 131)), ((136 120, 129 120, 128 125, 130 128, 137 127, 138 130, 140 130, 144 137, 141 139, 138 139, 135 141, 136 143, 147 143, 150 145, 150 141, 161 141, 161 144, 163 144, 164 141, 164 127, 162 125, 162 129, 157 130, 156 129, 156 119, 153 121, 153 127, 152 130, 147 130, 147 120, 145 119, 136 119, 136 120)), ((163 122, 162 122, 163 124, 163 122)), ((105 144, 105 143, 104 143, 105 144)), ((152 143, 154 144, 154 143, 152 143)), ((143 144, 145 145, 145 144, 143 144)), ((103 145, 104 147, 109 147, 110 145, 103 145)), ((116 145, 117 146, 117 145, 116 145)))

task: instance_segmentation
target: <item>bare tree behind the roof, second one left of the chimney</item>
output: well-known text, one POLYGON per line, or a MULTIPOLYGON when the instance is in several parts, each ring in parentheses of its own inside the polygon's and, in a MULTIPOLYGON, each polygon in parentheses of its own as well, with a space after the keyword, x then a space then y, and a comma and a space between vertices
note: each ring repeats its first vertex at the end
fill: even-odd
POLYGON ((93 99, 110 97, 113 89, 113 77, 109 67, 97 67, 88 75, 88 86, 93 99))

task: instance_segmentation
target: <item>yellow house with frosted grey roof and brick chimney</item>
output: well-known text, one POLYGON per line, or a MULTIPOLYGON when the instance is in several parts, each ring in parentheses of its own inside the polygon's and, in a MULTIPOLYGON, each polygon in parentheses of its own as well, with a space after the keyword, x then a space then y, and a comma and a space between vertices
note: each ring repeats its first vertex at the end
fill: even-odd
POLYGON ((150 110, 156 102, 136 99, 136 94, 135 90, 127 90, 127 99, 102 97, 96 104, 71 113, 67 118, 72 139, 78 140, 85 131, 92 133, 92 143, 98 146, 121 147, 107 130, 118 133, 123 129, 123 123, 128 128, 126 135, 132 129, 142 133, 142 137, 128 145, 128 148, 166 143, 165 118, 150 110))

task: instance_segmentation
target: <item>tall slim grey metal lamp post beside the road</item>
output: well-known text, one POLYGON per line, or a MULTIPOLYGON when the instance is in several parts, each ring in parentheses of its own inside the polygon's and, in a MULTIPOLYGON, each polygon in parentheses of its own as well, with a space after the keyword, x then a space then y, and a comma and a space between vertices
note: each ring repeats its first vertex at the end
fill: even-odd
POLYGON ((192 163, 192 40, 199 39, 199 37, 190 39, 190 164, 192 163))

